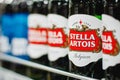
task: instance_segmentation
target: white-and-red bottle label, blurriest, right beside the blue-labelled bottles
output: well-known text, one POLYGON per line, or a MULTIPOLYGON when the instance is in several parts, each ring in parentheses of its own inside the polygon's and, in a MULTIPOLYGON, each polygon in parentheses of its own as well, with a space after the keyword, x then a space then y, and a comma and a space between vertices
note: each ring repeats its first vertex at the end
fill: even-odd
POLYGON ((47 17, 31 14, 28 17, 28 49, 31 58, 40 58, 47 54, 48 25, 47 17))

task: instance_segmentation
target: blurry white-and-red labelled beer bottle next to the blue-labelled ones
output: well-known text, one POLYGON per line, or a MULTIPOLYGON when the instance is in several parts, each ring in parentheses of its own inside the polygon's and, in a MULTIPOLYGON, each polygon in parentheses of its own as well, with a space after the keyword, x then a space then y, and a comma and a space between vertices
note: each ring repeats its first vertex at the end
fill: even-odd
MULTIPOLYGON (((34 2, 28 17, 28 54, 32 62, 48 66, 47 50, 47 13, 48 1, 34 2), (36 22, 35 22, 36 21, 36 22), (34 34, 35 33, 35 34, 34 34)), ((46 71, 30 68, 28 76, 34 80, 47 80, 46 71)))

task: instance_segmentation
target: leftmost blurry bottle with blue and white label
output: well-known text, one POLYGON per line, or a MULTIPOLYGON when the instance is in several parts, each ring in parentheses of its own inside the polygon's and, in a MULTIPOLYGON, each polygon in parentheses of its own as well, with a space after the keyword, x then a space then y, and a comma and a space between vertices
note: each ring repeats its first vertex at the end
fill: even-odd
MULTIPOLYGON (((12 36, 12 19, 13 19, 13 9, 11 4, 7 4, 4 8, 4 12, 1 17, 1 52, 5 54, 11 54, 10 45, 12 36)), ((11 69, 11 63, 8 61, 2 61, 2 66, 11 69)))

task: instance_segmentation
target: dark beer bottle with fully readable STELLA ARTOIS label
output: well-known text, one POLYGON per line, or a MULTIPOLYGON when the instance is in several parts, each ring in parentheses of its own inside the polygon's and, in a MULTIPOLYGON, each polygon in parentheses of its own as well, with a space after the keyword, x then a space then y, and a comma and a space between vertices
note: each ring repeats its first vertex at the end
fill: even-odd
MULTIPOLYGON (((101 37, 99 29, 101 21, 94 17, 96 13, 96 1, 88 2, 85 0, 72 0, 70 8, 70 17, 68 19, 69 26, 69 59, 71 63, 70 71, 75 74, 101 79, 101 75, 95 76, 96 71, 101 69, 96 68, 101 65, 99 59, 101 54, 101 37), (94 16, 93 16, 94 15, 94 16), (92 22, 94 21, 94 22, 92 22), (98 35, 95 35, 96 33, 98 35), (94 36, 94 47, 91 39, 85 38, 85 35, 94 36), (79 37, 79 38, 78 38, 79 37), (88 41, 88 42, 87 42, 88 41), (96 48, 95 46, 99 46, 96 48), (96 69, 95 69, 96 68, 96 69), (95 72, 95 74, 94 74, 95 72)), ((77 80, 72 79, 70 80, 77 80)))

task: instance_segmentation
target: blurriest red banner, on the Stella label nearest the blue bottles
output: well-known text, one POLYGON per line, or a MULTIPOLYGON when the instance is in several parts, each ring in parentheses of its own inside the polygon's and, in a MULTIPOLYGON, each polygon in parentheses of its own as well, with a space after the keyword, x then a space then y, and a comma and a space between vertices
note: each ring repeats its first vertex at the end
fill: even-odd
POLYGON ((31 44, 47 44, 47 28, 29 28, 28 41, 31 44))

